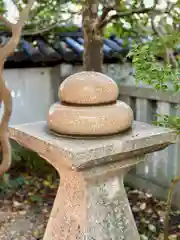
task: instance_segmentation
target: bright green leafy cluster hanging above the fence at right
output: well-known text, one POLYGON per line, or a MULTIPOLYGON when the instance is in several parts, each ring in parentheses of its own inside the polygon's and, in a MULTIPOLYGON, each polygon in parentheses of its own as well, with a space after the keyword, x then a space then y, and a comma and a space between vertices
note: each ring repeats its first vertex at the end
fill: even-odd
MULTIPOLYGON (((132 47, 129 57, 135 67, 137 83, 144 81, 157 90, 168 90, 172 85, 175 92, 180 90, 180 71, 174 70, 170 64, 158 61, 157 56, 162 51, 163 45, 155 38, 153 41, 132 47), (160 50, 159 50, 160 49, 160 50)), ((180 64, 179 61, 177 61, 180 64)))

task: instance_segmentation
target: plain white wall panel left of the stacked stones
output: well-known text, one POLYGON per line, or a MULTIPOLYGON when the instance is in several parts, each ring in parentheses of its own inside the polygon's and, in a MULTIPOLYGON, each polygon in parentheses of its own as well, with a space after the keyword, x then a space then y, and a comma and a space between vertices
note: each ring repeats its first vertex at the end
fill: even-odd
MULTIPOLYGON (((7 69, 3 75, 13 97, 10 124, 46 119, 54 102, 51 68, 7 69)), ((3 107, 1 115, 2 110, 3 107)))

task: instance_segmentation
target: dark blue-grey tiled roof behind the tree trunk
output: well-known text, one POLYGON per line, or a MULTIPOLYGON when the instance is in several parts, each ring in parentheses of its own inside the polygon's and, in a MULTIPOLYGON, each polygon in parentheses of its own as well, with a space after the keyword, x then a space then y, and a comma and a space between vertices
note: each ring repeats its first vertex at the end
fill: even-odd
MULTIPOLYGON (((0 45, 9 38, 8 33, 0 33, 0 45)), ((140 39, 149 41, 149 39, 140 39)), ((117 62, 131 48, 132 38, 119 39, 111 35, 104 38, 104 62, 117 62)), ((84 51, 84 39, 79 28, 73 32, 61 32, 57 34, 54 43, 47 42, 42 36, 22 38, 16 52, 7 58, 5 67, 41 67, 54 66, 62 62, 82 63, 84 51)), ((178 51, 179 53, 179 51, 178 51)))

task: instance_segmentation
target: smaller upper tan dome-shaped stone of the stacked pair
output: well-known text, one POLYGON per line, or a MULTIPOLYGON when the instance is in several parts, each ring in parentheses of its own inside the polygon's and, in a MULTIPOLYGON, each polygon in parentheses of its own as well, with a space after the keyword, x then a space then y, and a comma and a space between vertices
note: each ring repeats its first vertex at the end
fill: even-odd
POLYGON ((118 86, 111 78, 93 71, 67 77, 58 92, 62 102, 78 105, 108 104, 115 102, 118 95, 118 86))

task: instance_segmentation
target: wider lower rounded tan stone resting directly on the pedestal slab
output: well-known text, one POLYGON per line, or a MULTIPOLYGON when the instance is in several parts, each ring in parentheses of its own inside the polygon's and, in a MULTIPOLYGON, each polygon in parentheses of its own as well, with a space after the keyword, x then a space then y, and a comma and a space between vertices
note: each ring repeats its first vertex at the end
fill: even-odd
POLYGON ((124 102, 85 107, 55 103, 49 110, 48 126, 59 134, 99 136, 120 133, 131 127, 133 111, 124 102))

